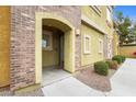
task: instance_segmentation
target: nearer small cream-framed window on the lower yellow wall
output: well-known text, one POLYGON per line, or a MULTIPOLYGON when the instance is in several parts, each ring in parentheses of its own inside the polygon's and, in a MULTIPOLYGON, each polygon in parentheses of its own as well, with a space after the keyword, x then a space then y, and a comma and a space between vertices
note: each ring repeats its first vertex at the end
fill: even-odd
POLYGON ((84 35, 84 54, 91 53, 91 37, 89 35, 84 35))

